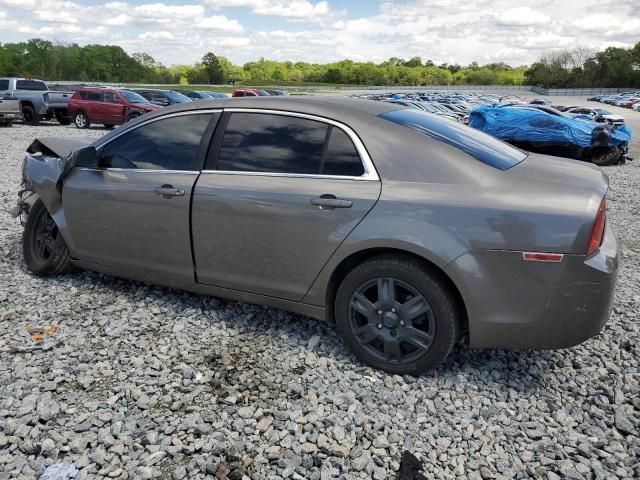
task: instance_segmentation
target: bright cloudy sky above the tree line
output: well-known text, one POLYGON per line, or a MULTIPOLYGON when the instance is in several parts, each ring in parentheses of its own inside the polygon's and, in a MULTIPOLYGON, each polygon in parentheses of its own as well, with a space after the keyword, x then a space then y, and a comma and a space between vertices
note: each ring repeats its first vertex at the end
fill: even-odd
POLYGON ((120 45, 165 65, 208 51, 380 62, 530 64, 545 52, 640 41, 637 0, 0 0, 0 42, 120 45))

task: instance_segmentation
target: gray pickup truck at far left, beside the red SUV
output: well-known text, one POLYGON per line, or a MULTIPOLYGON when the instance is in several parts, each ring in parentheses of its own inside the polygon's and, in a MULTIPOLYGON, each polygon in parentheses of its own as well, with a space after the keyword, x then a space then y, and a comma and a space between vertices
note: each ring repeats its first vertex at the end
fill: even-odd
POLYGON ((40 120, 55 117, 58 122, 68 125, 67 105, 73 92, 53 92, 42 80, 30 78, 1 77, 0 97, 20 101, 25 123, 37 125, 40 120))

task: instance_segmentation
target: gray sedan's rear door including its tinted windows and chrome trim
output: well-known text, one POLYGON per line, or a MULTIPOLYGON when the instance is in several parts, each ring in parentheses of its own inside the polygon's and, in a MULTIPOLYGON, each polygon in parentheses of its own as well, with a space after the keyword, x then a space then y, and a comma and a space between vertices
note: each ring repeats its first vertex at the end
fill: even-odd
POLYGON ((377 201, 380 181, 346 126, 226 112, 194 190, 197 281, 301 300, 377 201))

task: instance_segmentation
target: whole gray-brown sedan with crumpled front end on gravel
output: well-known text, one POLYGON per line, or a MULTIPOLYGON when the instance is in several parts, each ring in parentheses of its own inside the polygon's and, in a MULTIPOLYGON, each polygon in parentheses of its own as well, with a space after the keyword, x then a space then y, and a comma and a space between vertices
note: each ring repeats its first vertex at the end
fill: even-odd
POLYGON ((376 368, 562 348, 608 318, 605 175, 386 102, 188 103, 29 148, 24 258, 335 322, 376 368))

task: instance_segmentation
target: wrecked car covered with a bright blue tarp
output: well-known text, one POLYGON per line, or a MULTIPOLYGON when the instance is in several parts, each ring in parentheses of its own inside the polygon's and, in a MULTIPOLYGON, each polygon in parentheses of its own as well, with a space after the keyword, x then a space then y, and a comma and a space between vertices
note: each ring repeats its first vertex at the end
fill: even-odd
POLYGON ((530 152, 573 158, 596 165, 627 160, 631 132, 612 125, 548 113, 540 106, 481 107, 469 116, 469 126, 530 152), (524 107, 524 108, 523 108, 524 107))

